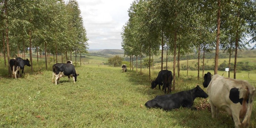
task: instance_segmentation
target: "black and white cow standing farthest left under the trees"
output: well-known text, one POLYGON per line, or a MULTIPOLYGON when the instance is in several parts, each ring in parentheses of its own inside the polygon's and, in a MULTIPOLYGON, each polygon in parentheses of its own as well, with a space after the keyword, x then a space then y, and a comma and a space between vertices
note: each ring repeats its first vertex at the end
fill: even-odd
POLYGON ((12 77, 14 76, 15 79, 17 79, 17 73, 18 73, 18 77, 20 77, 20 70, 22 70, 21 72, 22 74, 24 73, 25 65, 27 65, 28 67, 31 66, 30 61, 28 59, 23 60, 20 57, 10 59, 9 64, 12 71, 12 77))

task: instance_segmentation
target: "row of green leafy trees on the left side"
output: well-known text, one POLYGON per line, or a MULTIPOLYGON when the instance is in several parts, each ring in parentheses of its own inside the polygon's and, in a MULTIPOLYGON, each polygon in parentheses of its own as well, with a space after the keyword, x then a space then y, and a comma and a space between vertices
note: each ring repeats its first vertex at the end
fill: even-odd
MULTIPOLYGON (((10 57, 17 57, 29 49, 31 71, 32 50, 40 57, 47 55, 87 52, 86 30, 76 0, 1 0, 0 1, 0 46, 7 65, 10 57)), ((9 68, 10 73, 10 68, 9 68)))

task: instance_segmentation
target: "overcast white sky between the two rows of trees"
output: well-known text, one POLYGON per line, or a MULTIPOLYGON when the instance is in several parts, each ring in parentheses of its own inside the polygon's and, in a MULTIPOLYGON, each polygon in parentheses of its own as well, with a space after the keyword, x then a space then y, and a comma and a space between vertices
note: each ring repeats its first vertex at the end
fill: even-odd
POLYGON ((77 0, 89 49, 122 49, 122 27, 133 0, 77 0))

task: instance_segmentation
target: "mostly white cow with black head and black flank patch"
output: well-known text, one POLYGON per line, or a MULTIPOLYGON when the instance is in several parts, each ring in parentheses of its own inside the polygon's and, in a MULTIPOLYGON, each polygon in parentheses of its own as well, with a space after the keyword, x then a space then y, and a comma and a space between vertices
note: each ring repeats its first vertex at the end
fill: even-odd
POLYGON ((204 74, 204 87, 207 87, 212 118, 219 110, 224 110, 234 120, 235 127, 249 127, 255 87, 245 80, 225 78, 210 72, 204 74), (240 118, 243 118, 242 122, 240 118))

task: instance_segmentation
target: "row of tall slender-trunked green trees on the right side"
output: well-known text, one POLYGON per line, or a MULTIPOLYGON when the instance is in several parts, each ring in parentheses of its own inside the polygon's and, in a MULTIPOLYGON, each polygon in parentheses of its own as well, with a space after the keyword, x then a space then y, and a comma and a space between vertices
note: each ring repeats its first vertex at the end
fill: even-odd
POLYGON ((235 52, 236 78, 237 49, 256 41, 255 3, 255 0, 134 1, 121 34, 124 54, 130 57, 149 56, 150 64, 150 58, 158 55, 159 49, 162 49, 163 70, 163 51, 168 51, 167 55, 173 55, 175 89, 176 56, 179 77, 180 56, 188 56, 197 50, 199 79, 200 51, 203 51, 204 69, 204 54, 215 49, 214 74, 217 74, 219 48, 222 48, 230 56, 235 52), (252 38, 246 40, 246 37, 252 38))

